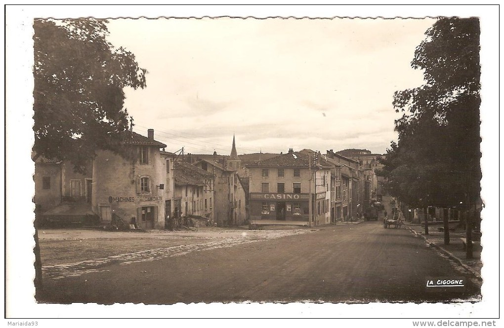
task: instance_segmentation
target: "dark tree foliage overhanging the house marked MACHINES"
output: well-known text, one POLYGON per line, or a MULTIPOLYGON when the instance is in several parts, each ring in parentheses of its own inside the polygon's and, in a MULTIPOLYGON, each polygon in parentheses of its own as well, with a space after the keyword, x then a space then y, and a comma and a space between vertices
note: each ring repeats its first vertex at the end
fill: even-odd
POLYGON ((107 41, 106 21, 37 19, 34 40, 33 150, 70 160, 74 169, 96 149, 125 153, 128 112, 123 88, 146 86, 135 55, 107 41))

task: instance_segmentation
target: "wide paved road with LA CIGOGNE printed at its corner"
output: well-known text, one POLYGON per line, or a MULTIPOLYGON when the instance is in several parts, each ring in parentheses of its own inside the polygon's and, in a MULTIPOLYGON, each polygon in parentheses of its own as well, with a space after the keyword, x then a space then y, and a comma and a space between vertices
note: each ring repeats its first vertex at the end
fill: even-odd
POLYGON ((48 268, 39 301, 434 302, 474 300, 480 293, 468 275, 421 238, 406 229, 384 229, 381 221, 245 241, 100 259, 103 263, 91 263, 93 271, 86 272, 79 272, 79 265, 48 268), (430 277, 460 277, 466 287, 426 288, 430 277))

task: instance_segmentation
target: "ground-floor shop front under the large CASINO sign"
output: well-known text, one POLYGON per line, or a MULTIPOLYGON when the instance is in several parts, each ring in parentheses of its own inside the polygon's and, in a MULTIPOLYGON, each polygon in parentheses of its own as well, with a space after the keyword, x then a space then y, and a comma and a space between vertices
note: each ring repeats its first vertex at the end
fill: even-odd
POLYGON ((250 193, 250 219, 253 220, 308 220, 309 195, 250 193))

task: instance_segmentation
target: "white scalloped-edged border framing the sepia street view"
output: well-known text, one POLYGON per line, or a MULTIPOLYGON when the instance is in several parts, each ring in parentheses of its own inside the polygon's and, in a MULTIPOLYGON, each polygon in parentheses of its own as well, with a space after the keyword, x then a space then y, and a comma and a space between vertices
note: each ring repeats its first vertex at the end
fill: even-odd
MULTIPOLYGON (((495 176, 497 167, 498 115, 498 8, 490 6, 7 6, 6 8, 6 183, 7 183, 7 312, 10 317, 482 317, 498 315, 498 260, 495 251, 498 245, 498 189, 495 176), (33 60, 31 24, 35 17, 438 17, 477 16, 481 19, 481 63, 482 63, 482 167, 485 210, 483 231, 485 247, 482 275, 484 284, 482 302, 471 304, 176 304, 171 306, 143 306, 116 304, 100 306, 93 304, 36 304, 32 293, 33 265, 28 261, 32 256, 33 238, 30 190, 33 180, 29 172, 33 165, 29 160, 29 150, 33 143, 31 130, 31 92, 33 81, 30 62, 33 60), (493 132, 493 133, 492 133, 493 132), (488 222, 495 220, 495 222, 488 222), (487 223, 488 222, 488 223, 487 223), (19 261, 21 260, 21 261, 19 261)), ((499 181, 500 182, 500 181, 499 181)), ((7 320, 5 320, 7 321, 7 320)), ((20 320, 18 320, 20 321, 20 320)), ((25 320, 23 320, 25 321, 25 320)), ((51 326, 68 326, 64 320, 39 320, 50 322, 51 326)), ((356 324, 347 320, 349 324, 356 324)), ((150 321, 152 322, 152 321, 150 321)), ((303 321, 297 321, 303 324, 303 321)), ((411 326, 411 320, 363 321, 373 325, 387 323, 387 326, 411 326)), ((73 326, 88 325, 86 320, 72 320, 73 326)), ((107 322, 103 322, 107 323, 107 322)), ((115 322, 114 322, 115 323, 115 322)), ((119 323, 119 322, 116 322, 119 323)), ((135 322, 137 324, 140 322, 135 322)), ((148 321, 149 323, 149 321, 148 321)), ((152 322, 154 323, 154 322, 152 322)), ((196 321, 196 324, 209 324, 196 321)), ((215 322, 217 323, 217 322, 215 322)), ((227 324, 243 326, 256 325, 255 321, 224 321, 227 324)), ((294 322, 292 322, 294 323, 294 322)), ((343 323, 343 322, 338 322, 343 323)), ((41 324, 41 323, 39 323, 41 324)), ((187 324, 182 321, 178 324, 187 324)), ((210 324, 214 324, 210 322, 210 324)), ((7 326, 7 325, 5 325, 7 326)))

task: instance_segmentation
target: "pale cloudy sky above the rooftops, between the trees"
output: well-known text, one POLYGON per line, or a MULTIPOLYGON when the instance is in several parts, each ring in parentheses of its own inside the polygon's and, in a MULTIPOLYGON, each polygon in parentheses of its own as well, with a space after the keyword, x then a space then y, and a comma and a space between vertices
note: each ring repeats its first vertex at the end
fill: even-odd
POLYGON ((395 91, 433 19, 115 19, 109 41, 148 70, 125 90, 134 131, 185 153, 385 153, 395 91))

